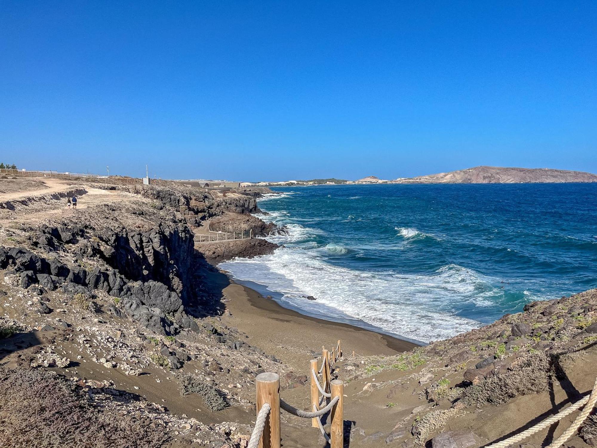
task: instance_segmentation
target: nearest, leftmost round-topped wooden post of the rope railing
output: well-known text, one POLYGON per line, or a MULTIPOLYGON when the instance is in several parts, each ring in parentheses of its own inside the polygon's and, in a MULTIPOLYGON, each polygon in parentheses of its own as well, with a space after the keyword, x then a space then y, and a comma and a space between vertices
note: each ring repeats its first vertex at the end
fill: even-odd
POLYGON ((257 414, 261 406, 272 407, 267 415, 259 448, 280 448, 280 377, 277 373, 260 373, 255 378, 257 386, 257 414))

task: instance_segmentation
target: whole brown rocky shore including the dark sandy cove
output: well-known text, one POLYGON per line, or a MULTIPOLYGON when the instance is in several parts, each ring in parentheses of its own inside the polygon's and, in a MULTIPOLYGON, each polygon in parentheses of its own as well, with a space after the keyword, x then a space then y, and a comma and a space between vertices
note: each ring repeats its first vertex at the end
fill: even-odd
MULTIPOLYGON (((230 284, 216 263, 277 246, 196 235, 280 231, 251 215, 267 189, 10 182, 0 195, 2 446, 245 448, 255 376, 279 373, 285 399, 306 409, 308 361, 337 339, 352 447, 481 446, 576 401, 597 375, 597 290, 416 347, 230 284), (64 204, 74 191, 76 211, 64 204)), ((283 423, 287 443, 323 443, 283 423)), ((570 443, 594 446, 596 425, 570 443)))

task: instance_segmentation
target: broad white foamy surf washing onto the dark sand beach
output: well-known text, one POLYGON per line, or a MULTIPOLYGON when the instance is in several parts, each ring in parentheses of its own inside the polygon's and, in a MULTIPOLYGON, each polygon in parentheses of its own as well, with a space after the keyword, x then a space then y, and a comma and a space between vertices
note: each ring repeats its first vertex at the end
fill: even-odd
MULTIPOLYGON (((471 269, 447 265, 431 274, 362 272, 334 266, 317 251, 280 248, 272 255, 221 263, 240 280, 264 284, 299 308, 324 306, 388 332, 422 341, 444 339, 478 327, 455 315, 463 306, 487 306, 499 294, 471 269), (313 296, 316 301, 296 299, 313 296)), ((325 311, 324 311, 325 312, 325 311)))

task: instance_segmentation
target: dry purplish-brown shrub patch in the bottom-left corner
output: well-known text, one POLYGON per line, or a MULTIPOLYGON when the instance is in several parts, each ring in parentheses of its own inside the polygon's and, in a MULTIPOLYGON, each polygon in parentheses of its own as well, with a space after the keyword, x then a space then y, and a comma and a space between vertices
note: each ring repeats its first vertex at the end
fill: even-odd
POLYGON ((43 370, 0 367, 2 446, 150 448, 168 441, 163 429, 136 416, 104 413, 87 392, 43 370))

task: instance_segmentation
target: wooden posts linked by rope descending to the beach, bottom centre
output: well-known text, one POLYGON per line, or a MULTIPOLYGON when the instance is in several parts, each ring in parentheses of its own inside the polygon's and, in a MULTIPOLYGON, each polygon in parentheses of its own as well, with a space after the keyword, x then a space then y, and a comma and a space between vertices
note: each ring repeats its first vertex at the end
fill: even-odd
POLYGON ((248 448, 280 448, 280 409, 299 418, 312 419, 313 428, 319 428, 331 448, 344 446, 344 382, 331 379, 330 366, 341 357, 340 341, 332 354, 325 348, 318 360, 310 361, 311 412, 297 409, 280 398, 280 377, 276 373, 257 375, 257 418, 248 448), (321 375, 321 382, 319 381, 321 375), (327 404, 322 407, 322 404, 327 404), (330 415, 330 434, 325 431, 322 419, 330 415))

